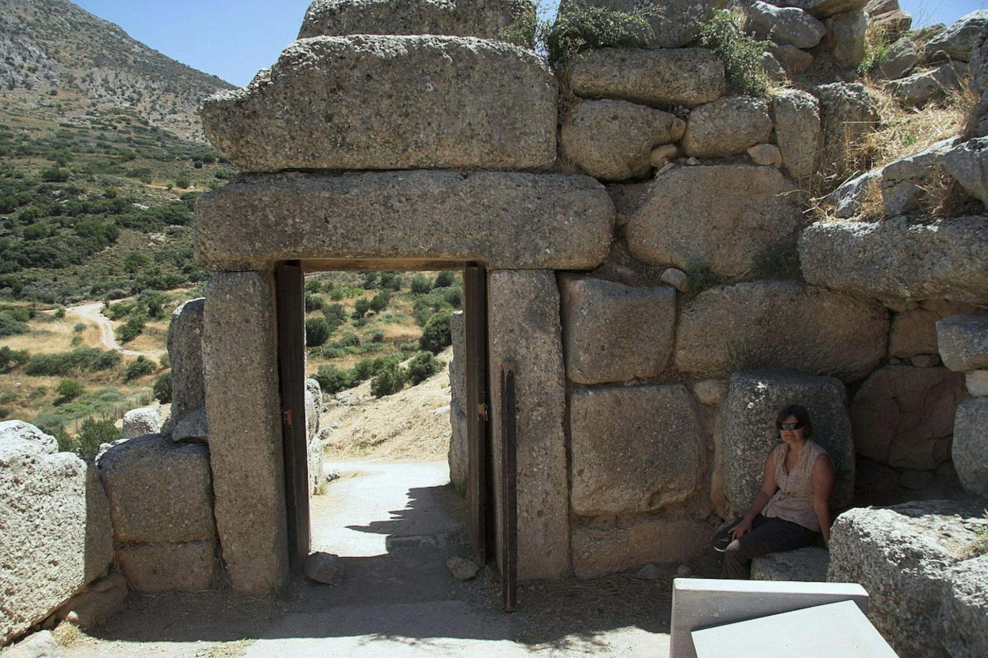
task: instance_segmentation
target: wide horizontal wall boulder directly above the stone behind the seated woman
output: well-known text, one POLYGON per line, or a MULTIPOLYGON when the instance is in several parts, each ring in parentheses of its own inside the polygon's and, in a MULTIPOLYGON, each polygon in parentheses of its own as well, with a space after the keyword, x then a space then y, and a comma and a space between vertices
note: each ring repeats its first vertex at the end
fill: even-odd
POLYGON ((853 381, 885 355, 879 304, 796 282, 711 288, 689 302, 676 333, 684 372, 787 368, 853 381), (826 321, 822 318, 827 318, 826 321))

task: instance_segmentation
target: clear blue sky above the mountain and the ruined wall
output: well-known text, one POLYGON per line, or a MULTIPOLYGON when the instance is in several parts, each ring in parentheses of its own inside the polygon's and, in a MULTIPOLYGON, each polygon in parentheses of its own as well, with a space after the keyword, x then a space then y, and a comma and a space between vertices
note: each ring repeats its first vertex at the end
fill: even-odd
MULTIPOLYGON (((549 0, 552 1, 552 0, 549 0)), ((75 0, 131 37, 227 82, 244 86, 298 35, 310 0, 75 0)), ((949 25, 988 0, 899 0, 914 27, 949 25)))

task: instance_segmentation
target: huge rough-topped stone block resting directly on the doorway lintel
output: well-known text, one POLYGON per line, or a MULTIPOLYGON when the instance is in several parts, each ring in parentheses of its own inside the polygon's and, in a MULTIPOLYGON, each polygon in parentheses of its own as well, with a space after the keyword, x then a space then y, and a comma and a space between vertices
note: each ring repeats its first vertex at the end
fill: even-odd
POLYGON ((555 161, 552 73, 535 52, 502 41, 295 41, 245 89, 206 99, 200 115, 241 171, 538 170, 555 161))

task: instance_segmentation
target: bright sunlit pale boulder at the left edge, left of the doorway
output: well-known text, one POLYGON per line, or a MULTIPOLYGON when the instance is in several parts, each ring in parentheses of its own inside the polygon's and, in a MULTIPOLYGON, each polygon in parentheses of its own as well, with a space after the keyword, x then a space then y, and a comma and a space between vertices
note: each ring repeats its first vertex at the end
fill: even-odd
POLYGON ((23 421, 0 423, 0 644, 24 634, 114 558, 96 468, 23 421))

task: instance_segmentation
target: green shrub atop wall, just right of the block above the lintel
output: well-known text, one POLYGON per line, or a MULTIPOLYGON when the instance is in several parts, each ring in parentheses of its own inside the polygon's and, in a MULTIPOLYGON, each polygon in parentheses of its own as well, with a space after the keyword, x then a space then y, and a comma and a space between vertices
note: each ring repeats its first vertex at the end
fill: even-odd
POLYGON ((544 22, 537 27, 535 39, 545 48, 551 65, 565 67, 588 48, 644 47, 654 36, 648 19, 656 11, 648 6, 624 13, 565 2, 554 23, 544 22))

